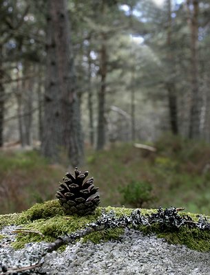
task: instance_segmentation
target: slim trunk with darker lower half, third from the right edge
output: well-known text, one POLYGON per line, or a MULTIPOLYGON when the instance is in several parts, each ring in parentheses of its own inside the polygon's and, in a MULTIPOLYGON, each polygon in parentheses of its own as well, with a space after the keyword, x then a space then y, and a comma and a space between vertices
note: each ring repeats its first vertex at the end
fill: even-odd
POLYGON ((172 21, 171 21, 171 0, 168 0, 168 28, 167 28, 167 63, 169 66, 169 77, 166 83, 169 100, 169 119, 171 125, 171 131, 174 135, 178 134, 178 115, 177 115, 177 96, 176 96, 176 85, 174 80, 174 58, 171 45, 172 36, 172 21))

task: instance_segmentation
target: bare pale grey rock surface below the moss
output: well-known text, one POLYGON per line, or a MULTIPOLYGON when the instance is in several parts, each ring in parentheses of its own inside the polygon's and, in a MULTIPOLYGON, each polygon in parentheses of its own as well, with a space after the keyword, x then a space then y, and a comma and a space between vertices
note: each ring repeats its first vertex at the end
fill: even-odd
POLYGON ((68 245, 64 252, 52 252, 45 256, 46 243, 29 243, 22 250, 13 250, 11 234, 14 226, 0 231, 1 267, 24 267, 41 263, 30 272, 15 274, 168 274, 210 275, 210 253, 189 250, 183 245, 169 245, 164 239, 144 236, 136 230, 125 230, 118 241, 94 244, 68 245))

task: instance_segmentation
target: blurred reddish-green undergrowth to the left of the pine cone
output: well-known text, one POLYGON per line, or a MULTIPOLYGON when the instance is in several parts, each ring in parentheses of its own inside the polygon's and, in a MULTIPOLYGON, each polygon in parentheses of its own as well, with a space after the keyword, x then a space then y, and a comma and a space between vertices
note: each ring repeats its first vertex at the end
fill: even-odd
POLYGON ((64 168, 36 151, 0 151, 0 214, 28 209, 54 198, 64 168))

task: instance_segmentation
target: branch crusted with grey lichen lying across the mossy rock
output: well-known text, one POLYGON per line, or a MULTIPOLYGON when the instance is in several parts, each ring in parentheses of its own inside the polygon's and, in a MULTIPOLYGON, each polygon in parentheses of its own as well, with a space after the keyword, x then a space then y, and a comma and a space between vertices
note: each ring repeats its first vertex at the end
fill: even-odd
POLYGON ((114 212, 109 212, 101 215, 101 218, 94 223, 87 224, 87 227, 83 230, 78 230, 72 234, 67 234, 65 236, 59 236, 54 243, 50 243, 48 246, 48 252, 52 252, 61 247, 61 245, 67 245, 76 241, 76 239, 81 239, 84 236, 89 235, 92 232, 102 231, 106 229, 113 228, 126 228, 132 227, 136 228, 138 225, 148 225, 153 223, 159 223, 162 228, 169 228, 175 230, 180 228, 180 226, 187 226, 189 228, 199 228, 200 230, 210 230, 210 223, 206 217, 200 216, 198 222, 193 221, 188 215, 180 216, 178 214, 179 210, 183 208, 162 208, 158 209, 157 213, 142 215, 139 209, 132 212, 131 215, 123 215, 122 217, 116 217, 114 212))

